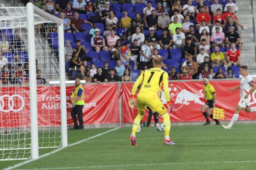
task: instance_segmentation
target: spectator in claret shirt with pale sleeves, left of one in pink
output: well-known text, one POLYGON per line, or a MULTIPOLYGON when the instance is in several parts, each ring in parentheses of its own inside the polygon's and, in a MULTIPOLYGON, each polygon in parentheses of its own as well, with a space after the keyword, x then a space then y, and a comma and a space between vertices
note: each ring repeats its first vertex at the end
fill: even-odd
POLYGON ((108 47, 106 46, 105 40, 102 36, 100 36, 100 30, 98 28, 94 31, 95 36, 91 38, 91 46, 94 48, 96 52, 100 52, 101 50, 107 51, 108 47))

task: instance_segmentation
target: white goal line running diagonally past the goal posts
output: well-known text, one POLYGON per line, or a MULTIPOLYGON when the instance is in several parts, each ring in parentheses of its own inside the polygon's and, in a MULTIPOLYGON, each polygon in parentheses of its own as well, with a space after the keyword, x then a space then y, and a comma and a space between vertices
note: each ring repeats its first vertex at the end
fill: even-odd
MULTIPOLYGON (((107 133, 109 133, 109 132, 113 132, 113 131, 118 130, 118 129, 119 129, 119 128, 114 128, 114 129, 111 129, 111 130, 107 130, 106 132, 102 132, 102 133, 100 133, 100 134, 96 134, 96 135, 94 135, 94 136, 92 136, 92 137, 90 137, 90 138, 85 138, 84 140, 79 140, 79 141, 77 141, 77 142, 75 142, 75 143, 69 144, 69 145, 67 145, 67 147, 69 147, 69 146, 74 146, 74 145, 80 144, 80 143, 82 143, 82 142, 86 142, 87 140, 90 140, 90 139, 92 139, 92 138, 96 138, 96 137, 98 137, 98 136, 102 136, 103 134, 107 134, 107 133)), ((63 148, 66 148, 66 147, 57 148, 55 151, 52 151, 52 152, 50 152, 50 153, 46 153, 46 154, 44 154, 44 155, 41 155, 40 157, 38 157, 38 159, 41 159, 41 158, 43 158, 43 157, 47 157, 47 156, 52 155, 52 154, 54 154, 54 153, 58 153, 59 151, 63 150, 63 148)), ((18 164, 16 164, 16 165, 13 165, 12 167, 7 167, 7 168, 5 168, 5 169, 3 169, 3 170, 11 170, 11 169, 14 169, 14 168, 18 168, 18 167, 20 167, 20 166, 22 166, 22 165, 26 165, 26 164, 31 163, 31 162, 33 162, 33 161, 37 161, 38 159, 30 159, 30 160, 28 160, 28 161, 24 161, 24 162, 22 162, 22 163, 18 163, 18 164)))

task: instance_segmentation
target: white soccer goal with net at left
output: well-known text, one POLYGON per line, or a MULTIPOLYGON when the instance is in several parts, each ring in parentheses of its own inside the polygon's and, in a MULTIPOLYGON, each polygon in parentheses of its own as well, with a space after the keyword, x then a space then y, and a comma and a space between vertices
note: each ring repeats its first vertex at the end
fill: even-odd
POLYGON ((67 146, 63 20, 32 3, 0 18, 0 161, 38 159, 67 146))

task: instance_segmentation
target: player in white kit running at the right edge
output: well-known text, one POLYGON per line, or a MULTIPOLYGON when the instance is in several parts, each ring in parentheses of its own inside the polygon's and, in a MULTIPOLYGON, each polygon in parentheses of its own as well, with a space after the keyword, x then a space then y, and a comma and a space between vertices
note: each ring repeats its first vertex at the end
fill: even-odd
POLYGON ((230 89, 230 91, 235 91, 236 89, 240 89, 240 101, 238 105, 236 106, 236 110, 234 111, 234 115, 232 119, 230 120, 228 126, 222 125, 225 129, 232 128, 234 122, 238 120, 239 113, 244 109, 246 112, 256 112, 256 107, 250 106, 251 101, 251 93, 255 91, 256 84, 253 82, 253 79, 251 76, 247 73, 248 67, 246 65, 243 65, 240 67, 240 75, 242 75, 242 79, 240 81, 240 85, 237 87, 234 87, 233 89, 230 89))

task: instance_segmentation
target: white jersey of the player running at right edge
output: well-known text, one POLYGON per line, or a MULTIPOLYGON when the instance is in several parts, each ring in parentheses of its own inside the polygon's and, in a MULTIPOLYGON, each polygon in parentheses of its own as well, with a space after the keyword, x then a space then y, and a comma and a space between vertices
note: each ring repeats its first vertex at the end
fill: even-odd
MULTIPOLYGON (((251 75, 242 77, 240 81, 240 97, 244 98, 245 95, 251 90, 251 85, 253 85, 253 78, 251 78, 251 75)), ((249 96, 251 98, 251 95, 249 96)))

